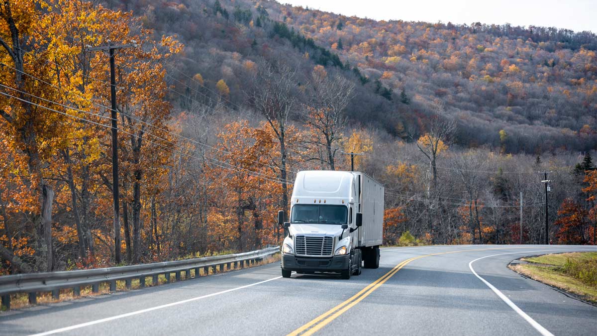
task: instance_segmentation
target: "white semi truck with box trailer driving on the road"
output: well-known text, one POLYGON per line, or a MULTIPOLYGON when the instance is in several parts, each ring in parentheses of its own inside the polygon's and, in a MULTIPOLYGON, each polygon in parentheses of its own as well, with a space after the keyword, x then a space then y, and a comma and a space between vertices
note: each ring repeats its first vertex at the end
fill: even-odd
POLYGON ((384 187, 363 172, 306 170, 297 173, 290 221, 278 212, 287 236, 282 276, 334 272, 343 279, 361 266, 379 266, 383 239, 384 187))

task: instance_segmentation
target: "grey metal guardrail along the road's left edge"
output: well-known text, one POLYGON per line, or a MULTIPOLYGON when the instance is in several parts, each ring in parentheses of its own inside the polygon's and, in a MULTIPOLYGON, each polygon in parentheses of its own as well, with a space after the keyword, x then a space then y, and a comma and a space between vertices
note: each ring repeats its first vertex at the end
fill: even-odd
POLYGON ((214 273, 217 267, 220 271, 245 267, 261 261, 263 258, 274 255, 280 251, 279 247, 266 248, 257 251, 235 253, 228 255, 207 256, 176 261, 153 262, 151 264, 94 268, 91 270, 59 271, 48 273, 26 273, 10 276, 0 276, 0 295, 2 305, 10 309, 10 294, 29 294, 29 303, 37 302, 38 292, 52 292, 55 299, 60 297, 60 289, 72 288, 73 294, 81 294, 81 286, 92 286, 94 293, 99 292, 100 283, 109 282, 110 292, 116 291, 116 280, 125 280, 125 286, 131 287, 131 280, 139 279, 140 288, 146 284, 146 277, 152 277, 152 284, 158 285, 159 274, 164 274, 166 282, 170 282, 171 273, 176 274, 176 280, 181 279, 181 273, 185 273, 185 279, 190 279, 190 271, 195 270, 195 277, 198 277, 201 268, 208 274, 210 267, 214 273))

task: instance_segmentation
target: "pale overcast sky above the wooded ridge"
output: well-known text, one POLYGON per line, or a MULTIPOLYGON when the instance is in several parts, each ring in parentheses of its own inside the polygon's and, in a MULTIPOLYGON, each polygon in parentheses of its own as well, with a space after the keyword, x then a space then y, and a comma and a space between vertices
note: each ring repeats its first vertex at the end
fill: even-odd
POLYGON ((510 23, 513 26, 547 26, 590 30, 597 33, 597 0, 277 0, 375 20, 424 22, 510 23))

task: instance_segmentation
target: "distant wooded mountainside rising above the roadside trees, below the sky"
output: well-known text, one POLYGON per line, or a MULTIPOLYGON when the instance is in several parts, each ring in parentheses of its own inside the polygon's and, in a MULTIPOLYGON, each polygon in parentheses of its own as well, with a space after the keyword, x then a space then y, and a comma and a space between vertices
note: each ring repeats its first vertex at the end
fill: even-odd
POLYGON ((144 23, 159 33, 177 34, 186 45, 177 68, 201 74, 212 88, 223 79, 233 103, 244 102, 246 60, 283 57, 299 74, 319 64, 354 81, 347 114, 392 136, 417 138, 429 117, 442 112, 456 117, 454 140, 463 146, 505 145, 531 154, 596 148, 591 32, 376 22, 272 1, 112 5, 146 16, 144 23), (501 129, 510 135, 505 143, 501 129))

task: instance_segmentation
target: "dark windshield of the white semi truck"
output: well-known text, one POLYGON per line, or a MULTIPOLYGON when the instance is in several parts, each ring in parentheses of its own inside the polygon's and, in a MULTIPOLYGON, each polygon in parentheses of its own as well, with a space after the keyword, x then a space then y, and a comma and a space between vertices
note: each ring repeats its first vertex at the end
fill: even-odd
POLYGON ((293 223, 346 224, 348 208, 342 205, 296 204, 290 221, 293 223))

